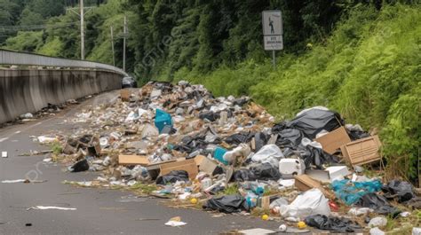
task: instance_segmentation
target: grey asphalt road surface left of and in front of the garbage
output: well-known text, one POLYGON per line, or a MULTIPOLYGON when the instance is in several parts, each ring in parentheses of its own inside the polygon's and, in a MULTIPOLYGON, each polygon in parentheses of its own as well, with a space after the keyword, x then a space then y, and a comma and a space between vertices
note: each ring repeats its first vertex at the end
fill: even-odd
POLYGON ((64 120, 80 108, 107 102, 116 97, 108 92, 68 107, 54 117, 46 117, 25 124, 0 129, 0 151, 8 158, 0 158, 0 181, 22 179, 26 176, 47 180, 38 184, 0 183, 0 234, 218 234, 234 229, 266 228, 276 230, 281 223, 262 221, 242 215, 211 217, 210 213, 194 209, 168 208, 160 200, 120 202, 129 192, 76 188, 62 184, 64 180, 91 180, 98 173, 69 173, 65 166, 44 163, 43 155, 18 156, 31 150, 43 150, 30 136, 49 132, 69 133, 83 128, 64 120), (35 206, 56 206, 76 210, 36 210, 35 206), (181 216, 187 225, 165 226, 173 216, 181 216), (151 219, 151 220, 139 220, 151 219), (30 225, 30 226, 27 226, 30 225))

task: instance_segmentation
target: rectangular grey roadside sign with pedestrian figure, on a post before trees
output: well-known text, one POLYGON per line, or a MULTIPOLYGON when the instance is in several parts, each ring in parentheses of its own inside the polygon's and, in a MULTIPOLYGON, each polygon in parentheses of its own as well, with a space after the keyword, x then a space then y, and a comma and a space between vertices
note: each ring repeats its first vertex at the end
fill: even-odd
POLYGON ((275 68, 275 51, 283 49, 282 12, 278 10, 263 11, 262 26, 265 51, 272 51, 272 62, 275 68))

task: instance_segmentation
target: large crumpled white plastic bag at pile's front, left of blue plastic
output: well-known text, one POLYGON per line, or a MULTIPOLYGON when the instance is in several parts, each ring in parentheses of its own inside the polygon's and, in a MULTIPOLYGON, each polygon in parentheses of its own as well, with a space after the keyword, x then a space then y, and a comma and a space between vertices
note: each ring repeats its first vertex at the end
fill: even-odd
POLYGON ((281 206, 280 214, 283 217, 299 217, 301 219, 308 215, 330 215, 329 200, 326 199, 319 189, 311 189, 291 202, 290 205, 281 206))

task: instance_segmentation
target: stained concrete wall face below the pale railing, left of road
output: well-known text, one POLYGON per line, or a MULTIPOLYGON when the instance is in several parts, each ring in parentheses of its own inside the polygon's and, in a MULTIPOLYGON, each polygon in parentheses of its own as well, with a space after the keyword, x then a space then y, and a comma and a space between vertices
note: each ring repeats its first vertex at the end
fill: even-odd
POLYGON ((0 123, 51 104, 120 89, 122 75, 88 70, 0 70, 0 123))

